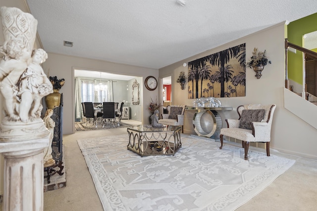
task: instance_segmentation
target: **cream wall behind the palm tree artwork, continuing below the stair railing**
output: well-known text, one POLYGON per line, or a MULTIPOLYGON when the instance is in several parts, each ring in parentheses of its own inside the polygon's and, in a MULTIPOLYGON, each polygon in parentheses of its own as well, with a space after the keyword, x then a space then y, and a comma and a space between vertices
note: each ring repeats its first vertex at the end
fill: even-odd
MULTIPOLYGON (((248 103, 276 104, 277 107, 272 123, 271 148, 317 159, 317 130, 285 109, 283 104, 285 79, 284 23, 161 68, 159 70, 159 78, 170 73, 173 75, 172 84, 175 84, 172 88, 173 104, 193 106, 193 100, 187 97, 188 83, 185 84, 186 88, 184 90, 181 90, 179 84, 176 83, 179 73, 188 71, 188 67, 183 67, 184 62, 193 61, 244 42, 246 43, 247 61, 252 55, 253 48, 257 47, 261 51, 266 49, 267 56, 272 61, 272 64, 265 66, 261 79, 257 79, 254 76, 254 71, 247 68, 245 97, 218 98, 223 106, 233 107, 232 111, 221 112, 222 119, 238 118, 236 108, 239 105, 248 103)), ((301 109, 300 107, 298 108, 299 111, 301 109)), ((192 113, 187 112, 184 130, 195 134, 192 126, 192 116, 192 113)), ((224 121, 223 127, 226 127, 224 121)))

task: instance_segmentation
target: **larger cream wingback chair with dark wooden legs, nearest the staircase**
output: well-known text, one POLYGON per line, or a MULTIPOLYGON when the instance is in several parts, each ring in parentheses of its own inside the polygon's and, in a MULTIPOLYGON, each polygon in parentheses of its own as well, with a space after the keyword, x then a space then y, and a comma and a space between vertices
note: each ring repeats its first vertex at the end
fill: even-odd
POLYGON ((266 155, 269 154, 269 142, 271 139, 271 125, 275 104, 248 104, 237 108, 239 119, 226 119, 227 128, 220 129, 220 149, 223 145, 223 136, 229 136, 242 141, 244 159, 248 160, 250 142, 265 142, 266 155))

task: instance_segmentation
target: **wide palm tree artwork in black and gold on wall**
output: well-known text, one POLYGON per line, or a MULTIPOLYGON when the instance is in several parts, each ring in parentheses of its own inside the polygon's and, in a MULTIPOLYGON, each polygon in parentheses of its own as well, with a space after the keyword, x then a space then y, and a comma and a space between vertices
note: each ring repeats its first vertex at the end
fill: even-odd
POLYGON ((188 98, 245 96, 245 52, 243 43, 188 62, 188 98))

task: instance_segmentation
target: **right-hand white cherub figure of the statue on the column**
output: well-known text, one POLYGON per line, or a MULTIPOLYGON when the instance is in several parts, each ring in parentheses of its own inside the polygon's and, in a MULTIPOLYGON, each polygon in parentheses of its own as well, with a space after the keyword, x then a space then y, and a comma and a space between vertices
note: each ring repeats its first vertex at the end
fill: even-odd
POLYGON ((43 49, 34 49, 32 62, 18 82, 19 117, 22 122, 27 122, 29 115, 32 118, 40 117, 42 97, 53 93, 53 85, 40 65, 47 58, 48 54, 43 49))

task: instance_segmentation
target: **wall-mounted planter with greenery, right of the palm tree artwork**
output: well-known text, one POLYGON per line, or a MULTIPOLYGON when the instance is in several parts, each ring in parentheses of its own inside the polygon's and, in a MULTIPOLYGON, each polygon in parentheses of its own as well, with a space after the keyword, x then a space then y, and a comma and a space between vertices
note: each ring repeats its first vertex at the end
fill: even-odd
POLYGON ((271 61, 268 61, 268 57, 265 55, 266 50, 264 52, 258 51, 258 48, 253 49, 253 53, 251 56, 251 60, 247 62, 247 67, 253 68, 254 72, 256 72, 255 77, 260 79, 262 76, 262 71, 264 66, 267 64, 271 64, 271 61))

